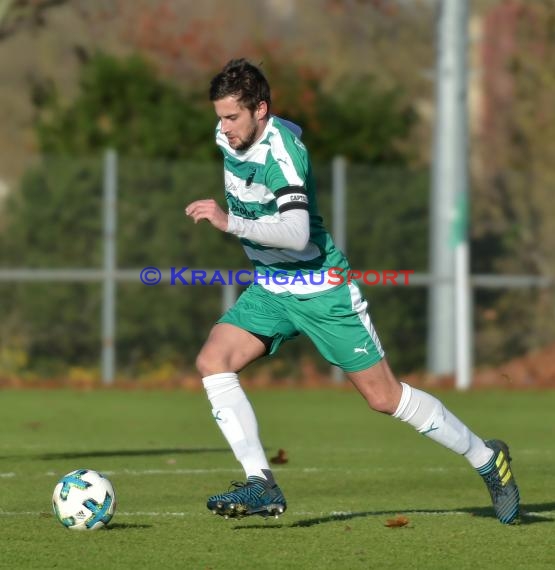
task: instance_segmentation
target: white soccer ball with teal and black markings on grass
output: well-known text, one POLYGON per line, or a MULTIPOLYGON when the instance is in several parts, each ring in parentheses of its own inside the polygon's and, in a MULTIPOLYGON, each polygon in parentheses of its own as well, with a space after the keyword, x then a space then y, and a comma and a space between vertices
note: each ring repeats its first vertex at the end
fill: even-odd
POLYGON ((77 469, 58 481, 52 508, 66 528, 97 530, 114 516, 116 495, 106 477, 92 469, 77 469))

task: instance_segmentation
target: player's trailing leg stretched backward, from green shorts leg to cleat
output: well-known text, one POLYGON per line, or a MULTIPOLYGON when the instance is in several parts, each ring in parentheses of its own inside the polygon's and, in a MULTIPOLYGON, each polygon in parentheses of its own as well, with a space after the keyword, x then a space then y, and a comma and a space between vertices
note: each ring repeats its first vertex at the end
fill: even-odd
POLYGON ((464 455, 486 482, 499 520, 509 523, 516 518, 518 488, 507 446, 498 440, 482 441, 437 398, 397 381, 384 358, 368 303, 354 283, 296 303, 290 318, 324 358, 345 371, 372 409, 464 455))

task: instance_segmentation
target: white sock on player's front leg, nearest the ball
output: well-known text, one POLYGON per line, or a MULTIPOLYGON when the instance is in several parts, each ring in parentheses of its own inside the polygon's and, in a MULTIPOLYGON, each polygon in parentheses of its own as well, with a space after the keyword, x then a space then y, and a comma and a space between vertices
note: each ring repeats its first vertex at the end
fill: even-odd
POLYGON ((273 481, 258 437, 256 416, 237 374, 212 374, 203 378, 202 383, 212 404, 212 415, 246 476, 257 475, 273 481))

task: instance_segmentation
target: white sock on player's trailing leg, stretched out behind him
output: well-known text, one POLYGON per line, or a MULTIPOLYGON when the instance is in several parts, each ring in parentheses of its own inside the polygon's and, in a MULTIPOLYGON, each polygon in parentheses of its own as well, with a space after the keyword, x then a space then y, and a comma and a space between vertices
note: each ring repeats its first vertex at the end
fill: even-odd
POLYGON ((422 435, 464 455, 472 467, 485 465, 493 455, 482 439, 472 433, 431 394, 401 382, 403 393, 394 418, 408 423, 422 435))

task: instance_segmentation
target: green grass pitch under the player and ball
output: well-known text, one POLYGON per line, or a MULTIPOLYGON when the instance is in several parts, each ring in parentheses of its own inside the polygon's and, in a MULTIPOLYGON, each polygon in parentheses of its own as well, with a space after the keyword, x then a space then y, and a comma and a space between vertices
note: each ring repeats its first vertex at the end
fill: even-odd
POLYGON ((0 392, 2 568, 553 568, 554 392, 441 393, 478 434, 511 445, 524 511, 494 518, 466 461, 367 410, 353 391, 250 394, 288 500, 280 519, 224 520, 206 497, 242 473, 206 397, 189 392, 0 392), (96 469, 118 509, 72 532, 59 477, 96 469), (409 524, 386 526, 403 515, 409 524))

